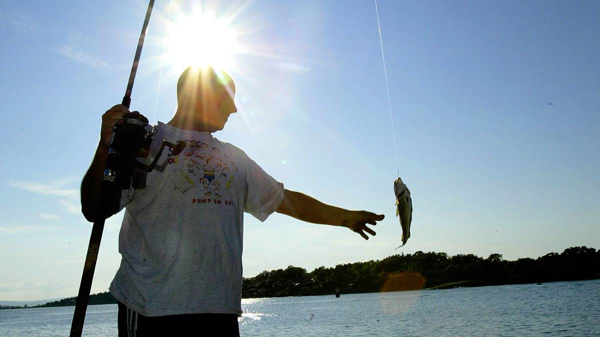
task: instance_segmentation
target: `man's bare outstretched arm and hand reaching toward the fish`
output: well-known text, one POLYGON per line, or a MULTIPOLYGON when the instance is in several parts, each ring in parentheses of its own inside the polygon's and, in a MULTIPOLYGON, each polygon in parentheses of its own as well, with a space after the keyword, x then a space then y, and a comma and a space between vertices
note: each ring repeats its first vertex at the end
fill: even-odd
POLYGON ((366 210, 347 210, 331 206, 289 189, 284 190, 283 201, 277 212, 313 224, 348 227, 364 237, 365 240, 369 239, 365 231, 375 235, 375 231, 368 228, 367 224, 376 225, 377 221, 383 219, 383 214, 377 215, 366 210))

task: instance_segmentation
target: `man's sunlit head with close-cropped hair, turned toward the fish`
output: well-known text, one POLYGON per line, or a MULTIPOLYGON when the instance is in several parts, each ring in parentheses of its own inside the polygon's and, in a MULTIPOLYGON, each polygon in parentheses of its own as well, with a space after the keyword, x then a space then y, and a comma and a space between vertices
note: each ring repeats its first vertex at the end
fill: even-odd
POLYGON ((177 82, 178 112, 205 131, 222 130, 227 118, 238 111, 233 103, 235 84, 224 71, 212 67, 188 67, 177 82))

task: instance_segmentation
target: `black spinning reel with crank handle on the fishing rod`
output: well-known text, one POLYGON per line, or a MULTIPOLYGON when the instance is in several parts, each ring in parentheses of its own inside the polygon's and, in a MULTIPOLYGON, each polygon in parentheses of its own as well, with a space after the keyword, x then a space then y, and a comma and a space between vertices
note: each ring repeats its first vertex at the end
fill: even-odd
POLYGON ((171 148, 172 155, 178 155, 185 148, 185 142, 176 144, 163 140, 151 164, 140 163, 136 158, 146 158, 150 153, 152 138, 157 128, 148 124, 148 119, 139 112, 129 112, 115 122, 110 139, 109 158, 103 175, 103 190, 109 195, 109 213, 118 210, 122 189, 131 188, 136 169, 151 172, 163 154, 165 146, 171 148))

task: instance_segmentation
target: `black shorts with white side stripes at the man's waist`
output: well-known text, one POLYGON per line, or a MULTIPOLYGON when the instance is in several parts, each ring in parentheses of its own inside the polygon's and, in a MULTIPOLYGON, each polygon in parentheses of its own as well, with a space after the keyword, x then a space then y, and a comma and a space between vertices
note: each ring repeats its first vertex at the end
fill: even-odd
POLYGON ((119 302, 119 337, 238 336, 236 314, 188 314, 148 317, 119 302))

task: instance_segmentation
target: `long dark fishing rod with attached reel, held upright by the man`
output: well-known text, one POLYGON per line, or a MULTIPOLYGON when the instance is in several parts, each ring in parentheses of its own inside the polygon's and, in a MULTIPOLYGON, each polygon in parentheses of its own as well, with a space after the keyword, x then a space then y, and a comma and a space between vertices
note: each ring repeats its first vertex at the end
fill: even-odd
MULTIPOLYGON (((133 90, 133 82, 136 79, 137 66, 139 65, 140 57, 142 56, 142 47, 148 30, 150 15, 154 7, 154 0, 150 0, 146 17, 142 25, 142 33, 137 42, 136 55, 133 58, 131 73, 127 82, 127 89, 122 100, 122 104, 129 109, 131 104, 131 91, 133 90)), ((88 308, 89 293, 92 288, 92 279, 94 278, 94 270, 96 261, 98 260, 98 250, 100 249, 100 241, 104 230, 104 220, 107 216, 112 215, 119 207, 119 197, 121 189, 127 185, 131 185, 131 174, 133 167, 151 171, 154 168, 156 161, 160 155, 157 155, 154 162, 150 166, 143 166, 135 161, 135 157, 147 157, 149 145, 152 142, 152 133, 148 133, 145 128, 148 125, 148 119, 137 112, 127 113, 124 118, 115 123, 113 127, 113 137, 110 143, 109 159, 107 161, 106 170, 104 170, 100 202, 98 204, 96 219, 92 226, 92 233, 89 238, 88 254, 85 258, 83 266, 83 274, 79 285, 79 294, 77 294, 77 303, 73 314, 73 322, 71 323, 71 337, 79 337, 83 331, 83 322, 85 321, 85 312, 88 308), (124 174, 121 174, 124 173, 124 174), (118 185, 118 186, 115 186, 118 185), (116 188, 121 187, 121 188, 116 188), (115 207, 116 206, 116 207, 115 207)), ((166 142, 163 141, 164 149, 166 142)), ((172 145, 172 144, 168 144, 172 145)), ((175 147, 175 145, 173 145, 175 147)))

